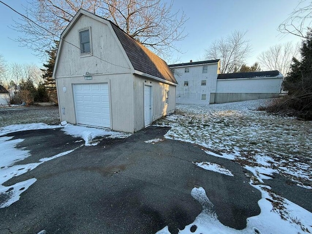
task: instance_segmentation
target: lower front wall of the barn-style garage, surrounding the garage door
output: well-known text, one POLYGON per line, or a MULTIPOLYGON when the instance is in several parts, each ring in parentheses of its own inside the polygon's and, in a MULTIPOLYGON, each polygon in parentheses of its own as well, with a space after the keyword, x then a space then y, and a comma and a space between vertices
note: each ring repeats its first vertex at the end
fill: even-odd
POLYGON ((77 124, 73 84, 107 82, 110 93, 111 128, 132 133, 134 130, 132 77, 132 74, 117 74, 92 76, 92 80, 85 80, 84 77, 57 78, 61 121, 66 120, 68 123, 77 124))

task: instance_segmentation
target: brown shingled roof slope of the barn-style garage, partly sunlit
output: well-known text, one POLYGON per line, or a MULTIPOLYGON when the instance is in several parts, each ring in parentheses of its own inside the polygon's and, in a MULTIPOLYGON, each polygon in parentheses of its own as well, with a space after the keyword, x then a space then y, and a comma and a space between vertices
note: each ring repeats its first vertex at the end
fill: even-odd
POLYGON ((110 23, 135 70, 177 84, 176 78, 164 60, 131 38, 116 24, 111 21, 110 23))

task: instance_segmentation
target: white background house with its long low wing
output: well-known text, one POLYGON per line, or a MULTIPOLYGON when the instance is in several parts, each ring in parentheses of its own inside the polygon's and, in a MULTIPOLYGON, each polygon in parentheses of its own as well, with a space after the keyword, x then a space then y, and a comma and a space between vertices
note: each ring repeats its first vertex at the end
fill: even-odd
POLYGON ((176 103, 213 104, 278 97, 279 71, 219 74, 220 60, 172 64, 179 86, 176 103))

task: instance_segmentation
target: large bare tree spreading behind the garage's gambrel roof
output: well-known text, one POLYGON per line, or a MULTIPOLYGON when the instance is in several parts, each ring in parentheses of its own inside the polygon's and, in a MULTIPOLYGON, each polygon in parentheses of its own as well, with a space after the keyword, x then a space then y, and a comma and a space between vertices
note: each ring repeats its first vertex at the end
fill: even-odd
POLYGON ((185 38, 187 20, 183 11, 173 13, 172 7, 173 1, 162 0, 32 0, 25 7, 29 19, 15 21, 14 29, 22 33, 17 39, 22 45, 43 55, 83 8, 112 20, 156 54, 169 57, 179 51, 174 43, 185 38))

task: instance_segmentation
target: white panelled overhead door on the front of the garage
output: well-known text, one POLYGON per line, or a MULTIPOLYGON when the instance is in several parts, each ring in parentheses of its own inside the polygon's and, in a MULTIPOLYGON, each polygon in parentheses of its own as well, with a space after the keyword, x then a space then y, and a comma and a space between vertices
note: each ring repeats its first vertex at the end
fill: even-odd
POLYGON ((74 84, 78 124, 110 128, 108 84, 74 84))

